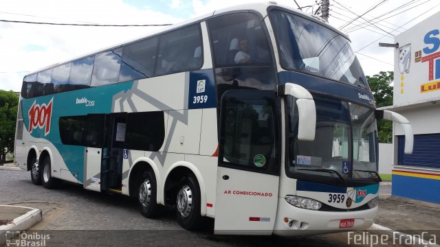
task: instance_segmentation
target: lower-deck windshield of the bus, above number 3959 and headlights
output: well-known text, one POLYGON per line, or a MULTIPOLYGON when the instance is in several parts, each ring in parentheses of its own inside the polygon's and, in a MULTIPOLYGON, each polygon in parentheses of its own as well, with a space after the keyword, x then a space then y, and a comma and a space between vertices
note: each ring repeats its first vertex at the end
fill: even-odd
POLYGON ((314 95, 316 136, 299 141, 296 99, 287 97, 289 163, 287 174, 335 180, 377 179, 374 110, 340 99, 314 95))

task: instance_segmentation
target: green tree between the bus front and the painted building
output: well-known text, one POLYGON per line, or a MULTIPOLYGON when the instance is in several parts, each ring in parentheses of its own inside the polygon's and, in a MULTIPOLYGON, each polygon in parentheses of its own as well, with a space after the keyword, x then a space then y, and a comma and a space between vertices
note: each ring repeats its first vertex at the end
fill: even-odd
MULTIPOLYGON (((376 107, 393 105, 393 71, 380 71, 379 74, 366 76, 371 92, 373 92, 376 107)), ((377 119, 377 132, 380 143, 393 141, 393 123, 384 119, 377 119)))

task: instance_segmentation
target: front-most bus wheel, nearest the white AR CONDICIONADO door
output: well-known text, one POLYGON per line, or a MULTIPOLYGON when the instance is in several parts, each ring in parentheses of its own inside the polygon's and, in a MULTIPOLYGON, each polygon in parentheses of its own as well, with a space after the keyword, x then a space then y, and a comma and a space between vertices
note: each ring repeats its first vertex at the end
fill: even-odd
POLYGON ((201 224, 200 189, 196 178, 190 175, 185 178, 177 191, 177 221, 187 230, 196 230, 201 224))

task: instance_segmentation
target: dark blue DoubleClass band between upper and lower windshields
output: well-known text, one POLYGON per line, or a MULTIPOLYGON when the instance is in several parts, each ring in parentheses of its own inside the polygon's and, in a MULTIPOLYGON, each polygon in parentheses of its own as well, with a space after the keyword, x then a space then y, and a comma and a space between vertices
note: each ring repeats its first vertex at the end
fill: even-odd
POLYGON ((281 71, 278 73, 279 84, 287 82, 298 84, 305 89, 320 93, 327 93, 338 97, 351 99, 370 106, 375 106, 373 94, 365 89, 356 88, 342 82, 335 82, 325 78, 318 78, 312 75, 292 71, 281 71))

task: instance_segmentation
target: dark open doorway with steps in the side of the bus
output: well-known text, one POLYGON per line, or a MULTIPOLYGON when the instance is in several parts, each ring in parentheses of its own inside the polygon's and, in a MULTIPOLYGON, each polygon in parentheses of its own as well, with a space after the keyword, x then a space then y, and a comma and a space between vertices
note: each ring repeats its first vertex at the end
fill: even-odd
POLYGON ((101 190, 121 192, 126 113, 108 115, 107 143, 102 148, 101 190))

